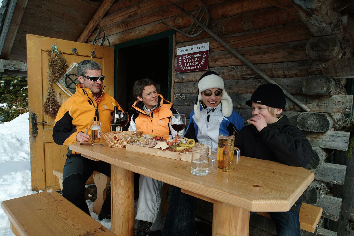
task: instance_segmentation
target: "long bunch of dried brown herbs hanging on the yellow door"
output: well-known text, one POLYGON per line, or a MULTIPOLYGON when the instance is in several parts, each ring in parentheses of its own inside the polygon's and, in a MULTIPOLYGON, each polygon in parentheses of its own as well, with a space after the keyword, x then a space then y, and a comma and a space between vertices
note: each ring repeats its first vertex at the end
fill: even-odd
POLYGON ((48 94, 44 103, 44 112, 52 117, 55 117, 58 113, 60 105, 55 98, 52 84, 53 80, 59 81, 59 79, 65 74, 68 67, 68 62, 62 56, 56 44, 53 44, 52 51, 48 52, 48 57, 48 94))

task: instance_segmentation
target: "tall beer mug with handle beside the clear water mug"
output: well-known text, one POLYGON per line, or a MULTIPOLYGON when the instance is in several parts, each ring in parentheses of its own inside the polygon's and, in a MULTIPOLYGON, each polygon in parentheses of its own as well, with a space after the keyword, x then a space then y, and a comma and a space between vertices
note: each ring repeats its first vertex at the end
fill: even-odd
POLYGON ((229 134, 220 134, 218 142, 218 171, 232 171, 234 165, 239 163, 240 149, 234 147, 235 136, 229 134), (234 151, 236 155, 234 156, 234 151))

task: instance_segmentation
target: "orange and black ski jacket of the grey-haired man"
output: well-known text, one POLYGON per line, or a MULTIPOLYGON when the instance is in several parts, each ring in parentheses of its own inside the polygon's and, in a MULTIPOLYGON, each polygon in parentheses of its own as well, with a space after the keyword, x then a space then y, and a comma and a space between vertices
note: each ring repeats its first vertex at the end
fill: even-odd
POLYGON ((68 98, 59 108, 53 127, 53 140, 59 145, 76 143, 79 132, 86 133, 86 128, 91 126, 91 121, 101 121, 101 132, 110 131, 110 123, 114 107, 119 106, 116 100, 103 92, 96 100, 92 97, 89 88, 76 85, 73 96, 68 98))

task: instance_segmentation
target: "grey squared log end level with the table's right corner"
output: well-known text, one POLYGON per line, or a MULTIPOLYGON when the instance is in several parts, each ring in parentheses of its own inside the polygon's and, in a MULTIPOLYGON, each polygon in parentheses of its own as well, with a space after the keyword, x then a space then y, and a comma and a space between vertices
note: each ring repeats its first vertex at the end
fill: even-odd
POLYGON ((315 173, 315 180, 326 183, 344 184, 346 178, 347 166, 337 165, 333 163, 323 163, 316 169, 311 169, 315 173))

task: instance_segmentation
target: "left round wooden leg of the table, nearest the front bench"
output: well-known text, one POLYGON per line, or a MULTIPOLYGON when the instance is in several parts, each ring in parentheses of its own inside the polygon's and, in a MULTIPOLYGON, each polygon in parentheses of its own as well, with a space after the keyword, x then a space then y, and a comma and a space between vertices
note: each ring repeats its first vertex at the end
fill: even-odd
POLYGON ((134 235, 134 173, 111 165, 111 224, 116 235, 134 235))

